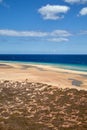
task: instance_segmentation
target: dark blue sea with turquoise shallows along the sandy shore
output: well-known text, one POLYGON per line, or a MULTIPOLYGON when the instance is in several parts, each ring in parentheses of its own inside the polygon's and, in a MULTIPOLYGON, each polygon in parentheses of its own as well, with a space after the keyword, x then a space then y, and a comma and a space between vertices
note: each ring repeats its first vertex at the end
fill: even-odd
POLYGON ((0 61, 50 64, 60 68, 87 72, 87 55, 0 54, 0 61))

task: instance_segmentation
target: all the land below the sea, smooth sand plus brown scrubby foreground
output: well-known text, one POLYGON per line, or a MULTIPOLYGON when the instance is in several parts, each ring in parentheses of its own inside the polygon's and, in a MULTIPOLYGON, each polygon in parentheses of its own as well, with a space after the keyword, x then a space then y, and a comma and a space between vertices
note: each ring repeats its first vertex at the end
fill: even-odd
POLYGON ((87 130, 87 73, 0 63, 0 130, 87 130))

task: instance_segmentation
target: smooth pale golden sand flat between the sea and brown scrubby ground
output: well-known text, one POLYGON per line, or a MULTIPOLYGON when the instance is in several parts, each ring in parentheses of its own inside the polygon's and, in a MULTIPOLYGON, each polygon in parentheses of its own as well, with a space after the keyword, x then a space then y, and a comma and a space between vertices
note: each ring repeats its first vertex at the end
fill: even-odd
POLYGON ((60 88, 87 89, 87 72, 39 64, 0 63, 0 80, 24 81, 25 79, 60 88))

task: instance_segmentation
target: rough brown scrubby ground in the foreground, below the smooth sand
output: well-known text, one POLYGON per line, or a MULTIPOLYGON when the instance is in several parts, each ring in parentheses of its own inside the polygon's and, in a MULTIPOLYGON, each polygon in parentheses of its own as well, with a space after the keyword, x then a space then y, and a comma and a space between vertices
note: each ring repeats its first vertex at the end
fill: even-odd
POLYGON ((0 81, 0 130, 87 130, 87 91, 0 81))

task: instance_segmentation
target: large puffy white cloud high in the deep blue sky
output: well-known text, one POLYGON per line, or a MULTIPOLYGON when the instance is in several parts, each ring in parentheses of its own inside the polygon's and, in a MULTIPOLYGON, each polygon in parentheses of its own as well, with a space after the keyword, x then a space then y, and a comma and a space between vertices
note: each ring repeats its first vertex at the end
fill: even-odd
POLYGON ((38 12, 44 19, 57 20, 64 16, 62 14, 67 13, 70 8, 63 5, 46 5, 38 9, 38 12))

